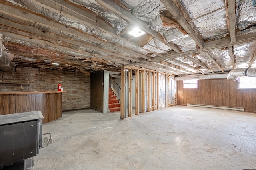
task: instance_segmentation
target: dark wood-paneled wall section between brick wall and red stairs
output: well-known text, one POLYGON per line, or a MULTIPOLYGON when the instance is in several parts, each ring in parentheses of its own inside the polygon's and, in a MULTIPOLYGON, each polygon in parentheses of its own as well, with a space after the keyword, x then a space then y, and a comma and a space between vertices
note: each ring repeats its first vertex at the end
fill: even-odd
POLYGON ((103 111, 103 71, 91 73, 91 107, 103 111))

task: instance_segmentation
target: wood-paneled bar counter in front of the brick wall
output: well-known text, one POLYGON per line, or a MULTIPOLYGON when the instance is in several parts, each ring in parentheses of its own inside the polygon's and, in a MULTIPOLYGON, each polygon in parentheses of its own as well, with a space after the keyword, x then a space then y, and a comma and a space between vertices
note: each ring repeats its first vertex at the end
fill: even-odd
POLYGON ((43 123, 62 115, 62 92, 0 92, 0 115, 41 111, 43 123))

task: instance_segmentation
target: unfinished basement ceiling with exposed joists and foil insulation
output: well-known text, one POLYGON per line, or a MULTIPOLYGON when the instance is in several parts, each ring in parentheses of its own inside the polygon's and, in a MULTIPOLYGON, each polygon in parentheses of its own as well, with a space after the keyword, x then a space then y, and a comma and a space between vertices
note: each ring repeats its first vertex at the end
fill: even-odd
POLYGON ((0 34, 1 70, 137 66, 180 76, 256 68, 253 0, 1 0, 0 34), (145 34, 130 35, 134 27, 145 34))

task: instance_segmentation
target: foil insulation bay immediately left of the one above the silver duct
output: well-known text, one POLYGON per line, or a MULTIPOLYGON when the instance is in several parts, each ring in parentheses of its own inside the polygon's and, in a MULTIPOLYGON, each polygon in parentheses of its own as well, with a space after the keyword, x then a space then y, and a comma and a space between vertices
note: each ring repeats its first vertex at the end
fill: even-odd
POLYGON ((232 62, 230 60, 229 52, 227 49, 216 49, 210 51, 210 54, 212 54, 212 57, 217 61, 217 63, 221 64, 221 67, 224 71, 230 71, 232 70, 232 62))

